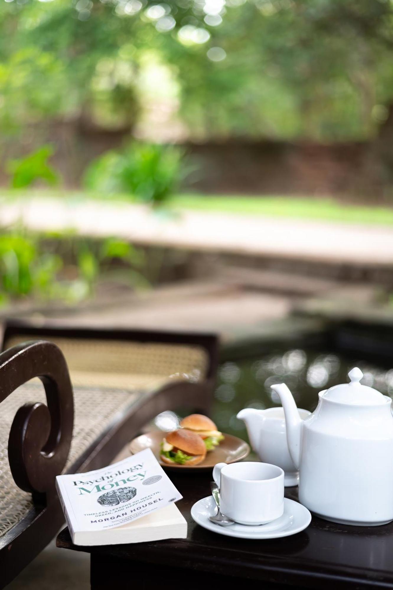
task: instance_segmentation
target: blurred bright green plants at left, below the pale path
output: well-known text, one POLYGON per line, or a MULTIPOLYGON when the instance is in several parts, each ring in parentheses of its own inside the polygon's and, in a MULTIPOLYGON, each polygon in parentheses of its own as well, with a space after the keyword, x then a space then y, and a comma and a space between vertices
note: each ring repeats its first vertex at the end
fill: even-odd
POLYGON ((94 294, 116 263, 122 264, 123 282, 148 286, 142 253, 117 238, 94 243, 66 233, 5 231, 0 234, 0 305, 21 297, 77 303, 94 294))

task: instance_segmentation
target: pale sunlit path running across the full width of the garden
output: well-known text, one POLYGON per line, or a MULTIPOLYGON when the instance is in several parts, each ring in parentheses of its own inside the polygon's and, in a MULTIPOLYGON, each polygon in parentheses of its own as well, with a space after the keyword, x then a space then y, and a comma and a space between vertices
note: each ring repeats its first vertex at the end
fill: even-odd
POLYGON ((114 235, 135 244, 332 263, 393 264, 393 228, 375 225, 196 211, 169 217, 142 205, 60 198, 0 204, 0 225, 18 219, 32 230, 73 228, 83 235, 114 235))

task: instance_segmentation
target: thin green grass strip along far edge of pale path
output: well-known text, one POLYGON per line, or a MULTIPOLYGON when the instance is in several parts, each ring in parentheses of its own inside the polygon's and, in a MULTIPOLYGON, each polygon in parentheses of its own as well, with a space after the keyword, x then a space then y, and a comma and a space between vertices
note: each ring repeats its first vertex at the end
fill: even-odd
MULTIPOLYGON (((0 204, 14 199, 30 200, 36 198, 59 198, 75 203, 85 200, 137 202, 132 195, 87 194, 82 191, 0 190, 0 204)), ((343 223, 393 225, 392 207, 372 207, 371 205, 345 204, 332 198, 297 197, 297 196, 231 196, 179 194, 168 202, 173 211, 194 210, 233 215, 265 215, 266 217, 283 217, 293 219, 319 219, 343 223)))

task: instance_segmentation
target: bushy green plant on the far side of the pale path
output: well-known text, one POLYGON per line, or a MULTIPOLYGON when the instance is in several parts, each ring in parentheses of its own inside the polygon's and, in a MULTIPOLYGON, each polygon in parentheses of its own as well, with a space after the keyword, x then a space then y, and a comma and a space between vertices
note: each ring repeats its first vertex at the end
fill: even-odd
POLYGON ((184 150, 176 146, 133 142, 121 152, 94 160, 86 171, 86 188, 125 193, 153 206, 163 205, 185 173, 184 150))

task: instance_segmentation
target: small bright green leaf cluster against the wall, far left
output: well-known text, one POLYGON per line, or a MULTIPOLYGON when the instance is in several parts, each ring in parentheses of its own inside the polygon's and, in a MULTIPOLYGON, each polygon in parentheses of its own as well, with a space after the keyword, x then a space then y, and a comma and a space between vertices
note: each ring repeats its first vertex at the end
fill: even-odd
POLYGON ((52 155, 52 146, 41 146, 24 158, 8 160, 6 172, 11 175, 12 188, 25 188, 37 180, 45 181, 49 185, 56 185, 58 183, 57 172, 48 163, 48 159, 52 155))

